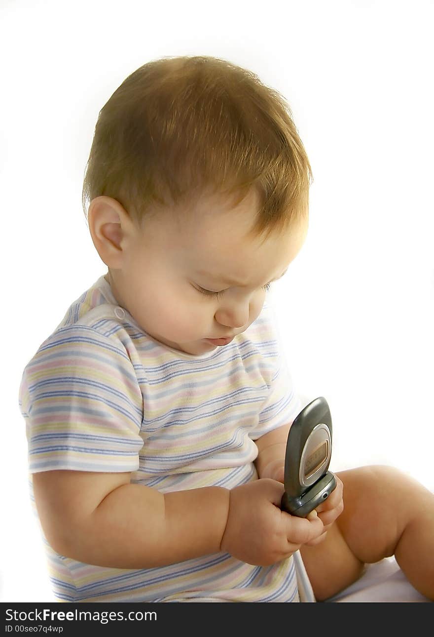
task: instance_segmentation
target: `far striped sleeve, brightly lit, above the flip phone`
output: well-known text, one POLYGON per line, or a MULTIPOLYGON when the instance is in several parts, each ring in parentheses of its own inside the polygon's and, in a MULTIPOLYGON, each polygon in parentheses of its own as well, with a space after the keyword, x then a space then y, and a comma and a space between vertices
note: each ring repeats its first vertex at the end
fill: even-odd
POLYGON ((284 357, 282 340, 272 306, 266 306, 264 315, 266 320, 262 339, 265 343, 265 355, 269 367, 269 394, 262 405, 258 424, 249 433, 251 440, 256 440, 277 427, 292 424, 302 408, 284 357))

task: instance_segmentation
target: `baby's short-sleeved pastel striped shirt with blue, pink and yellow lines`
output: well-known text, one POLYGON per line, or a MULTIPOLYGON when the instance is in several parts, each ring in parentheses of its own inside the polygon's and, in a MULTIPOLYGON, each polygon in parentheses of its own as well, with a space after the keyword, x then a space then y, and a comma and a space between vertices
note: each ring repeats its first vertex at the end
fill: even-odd
MULTIPOLYGON (((257 480, 254 441, 300 411, 279 352, 267 303, 232 343, 191 355, 145 333, 101 276, 22 376, 36 517, 38 471, 129 471, 131 482, 162 493, 257 480)), ((286 602, 306 595, 293 557, 262 567, 219 552, 158 568, 104 568, 58 554, 42 528, 41 535, 57 601, 286 602)))

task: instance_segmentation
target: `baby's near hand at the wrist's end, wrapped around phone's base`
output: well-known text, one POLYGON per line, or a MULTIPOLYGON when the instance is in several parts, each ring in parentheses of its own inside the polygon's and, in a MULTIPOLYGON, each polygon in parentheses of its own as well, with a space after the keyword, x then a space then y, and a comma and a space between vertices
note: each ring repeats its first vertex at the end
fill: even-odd
POLYGON ((319 538, 324 528, 321 517, 299 518, 281 511, 283 493, 283 484, 269 478, 230 490, 220 550, 248 564, 269 566, 319 538))

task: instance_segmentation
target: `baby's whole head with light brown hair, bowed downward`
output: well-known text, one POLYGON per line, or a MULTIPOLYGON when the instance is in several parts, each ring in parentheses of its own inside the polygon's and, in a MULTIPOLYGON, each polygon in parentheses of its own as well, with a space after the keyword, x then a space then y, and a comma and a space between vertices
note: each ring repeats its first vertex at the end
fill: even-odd
POLYGON ((276 90, 221 59, 163 58, 100 111, 83 208, 118 303, 200 355, 249 327, 297 256, 311 179, 276 90))

